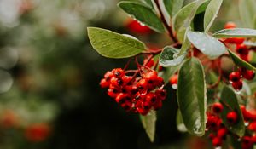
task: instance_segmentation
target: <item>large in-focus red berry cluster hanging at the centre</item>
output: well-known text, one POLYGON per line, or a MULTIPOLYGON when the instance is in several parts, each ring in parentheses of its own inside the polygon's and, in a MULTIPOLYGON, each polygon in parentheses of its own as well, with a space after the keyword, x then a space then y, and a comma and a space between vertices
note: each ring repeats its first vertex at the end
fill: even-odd
POLYGON ((128 112, 148 114, 153 108, 160 109, 166 99, 166 90, 162 89, 164 80, 157 72, 140 67, 139 76, 127 76, 121 68, 113 69, 104 75, 100 85, 108 88, 108 95, 115 99, 128 112))

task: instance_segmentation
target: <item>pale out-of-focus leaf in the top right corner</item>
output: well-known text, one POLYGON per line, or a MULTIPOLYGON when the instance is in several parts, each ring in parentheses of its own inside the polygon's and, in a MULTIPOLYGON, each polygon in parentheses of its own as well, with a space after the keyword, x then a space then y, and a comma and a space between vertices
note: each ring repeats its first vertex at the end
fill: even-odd
POLYGON ((253 28, 253 17, 256 14, 256 1, 255 0, 239 0, 239 13, 244 25, 253 28))

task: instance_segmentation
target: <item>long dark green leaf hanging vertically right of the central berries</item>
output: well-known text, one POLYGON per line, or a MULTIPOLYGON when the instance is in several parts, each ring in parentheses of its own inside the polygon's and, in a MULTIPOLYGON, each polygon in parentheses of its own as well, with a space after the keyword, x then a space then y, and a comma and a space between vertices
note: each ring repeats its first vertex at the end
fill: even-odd
POLYGON ((178 74, 177 103, 183 122, 192 135, 202 136, 206 128, 207 89, 200 60, 190 58, 178 74))

